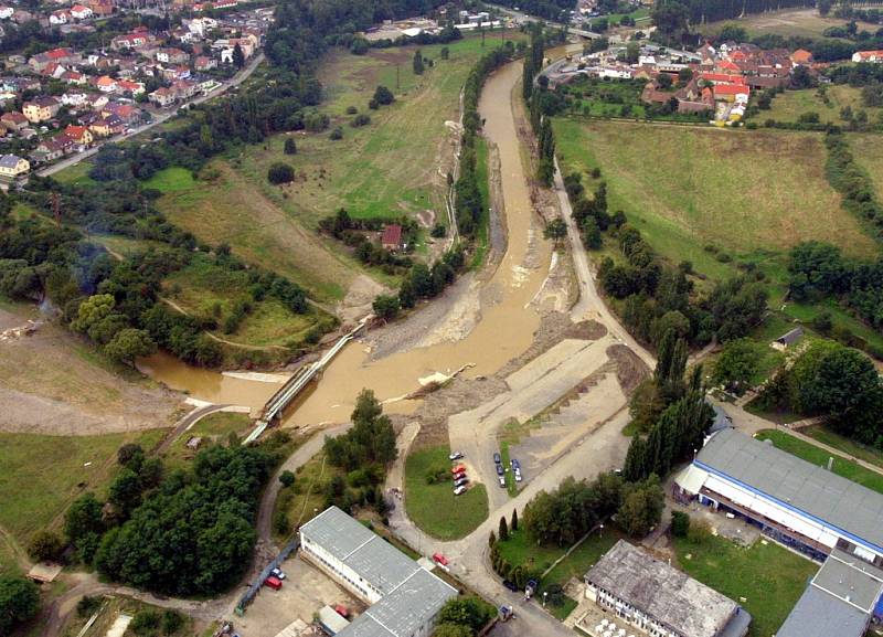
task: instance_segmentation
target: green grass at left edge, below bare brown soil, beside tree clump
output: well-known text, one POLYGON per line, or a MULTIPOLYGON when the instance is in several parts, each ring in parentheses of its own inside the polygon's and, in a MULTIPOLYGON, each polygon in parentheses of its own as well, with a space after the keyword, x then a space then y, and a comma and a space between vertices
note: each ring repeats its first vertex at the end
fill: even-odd
POLYGON ((153 448, 168 429, 102 436, 0 434, 0 524, 21 543, 61 521, 77 496, 104 491, 126 443, 153 448), (88 463, 88 466, 86 464, 88 463))

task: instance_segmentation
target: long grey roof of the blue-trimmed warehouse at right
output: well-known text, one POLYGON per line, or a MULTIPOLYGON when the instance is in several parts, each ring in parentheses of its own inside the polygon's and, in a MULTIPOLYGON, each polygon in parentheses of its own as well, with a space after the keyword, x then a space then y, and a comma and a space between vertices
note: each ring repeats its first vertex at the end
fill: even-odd
POLYGON ((736 429, 714 434, 696 464, 883 551, 883 495, 736 429))

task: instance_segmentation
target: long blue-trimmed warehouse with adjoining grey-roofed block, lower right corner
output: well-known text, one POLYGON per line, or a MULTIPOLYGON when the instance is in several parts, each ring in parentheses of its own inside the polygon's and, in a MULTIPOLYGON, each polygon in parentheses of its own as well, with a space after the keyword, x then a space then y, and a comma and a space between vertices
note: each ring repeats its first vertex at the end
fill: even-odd
POLYGON ((675 495, 825 561, 779 637, 859 637, 881 615, 883 495, 735 429, 708 439, 675 495))

